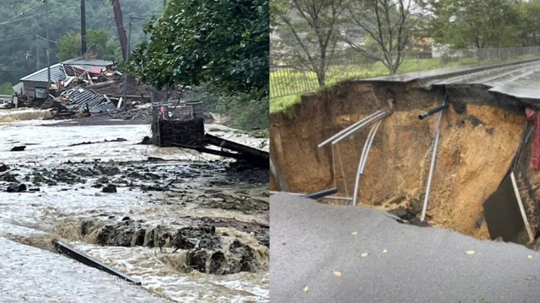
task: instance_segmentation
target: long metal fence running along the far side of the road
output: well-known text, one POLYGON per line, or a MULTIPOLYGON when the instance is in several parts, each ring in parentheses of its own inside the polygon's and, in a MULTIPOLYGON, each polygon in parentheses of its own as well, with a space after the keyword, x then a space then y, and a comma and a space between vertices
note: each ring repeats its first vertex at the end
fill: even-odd
MULTIPOLYGON (((485 65, 512 60, 540 58, 540 46, 512 47, 504 49, 434 50, 401 52, 403 63, 397 73, 432 70, 461 65, 485 65)), ((397 53, 393 54, 397 57, 397 53)), ((327 58, 325 85, 345 79, 361 79, 389 74, 388 68, 378 58, 383 53, 347 54, 327 58)), ((270 66, 270 98, 285 97, 316 91, 320 85, 314 66, 321 61, 303 64, 270 66)))

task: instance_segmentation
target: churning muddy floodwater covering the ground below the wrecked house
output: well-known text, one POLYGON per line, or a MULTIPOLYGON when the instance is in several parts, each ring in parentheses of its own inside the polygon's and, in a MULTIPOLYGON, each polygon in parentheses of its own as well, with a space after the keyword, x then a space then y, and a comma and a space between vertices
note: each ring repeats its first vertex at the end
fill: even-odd
MULTIPOLYGON (((29 111, 9 117, 0 123, 0 162, 15 170, 0 177, 0 240, 25 253, 0 260, 0 268, 45 259, 58 263, 48 272, 60 274, 62 266, 73 266, 53 249, 51 240, 60 239, 141 280, 140 301, 148 300, 145 295, 179 302, 269 301, 267 169, 240 170, 219 157, 137 144, 149 135, 148 125, 17 121, 39 118, 29 111), (126 140, 104 142, 117 138, 126 140), (100 143, 73 146, 82 142, 100 143), (19 145, 27 146, 24 152, 9 152, 19 145), (6 191, 19 183, 27 190, 6 191)), ((268 139, 220 125, 207 130, 268 150, 268 139)), ((48 283, 32 266, 14 272, 14 285, 17 277, 48 283)), ((107 293, 110 282, 87 277, 93 279, 85 281, 87 289, 100 294, 95 298, 122 301, 107 293)), ((79 283, 69 276, 63 281, 79 283)), ((30 290, 7 288, 0 287, 2 297, 35 298, 30 290)), ((62 298, 70 298, 68 288, 51 301, 62 298)), ((137 301, 137 295, 126 298, 137 301)))

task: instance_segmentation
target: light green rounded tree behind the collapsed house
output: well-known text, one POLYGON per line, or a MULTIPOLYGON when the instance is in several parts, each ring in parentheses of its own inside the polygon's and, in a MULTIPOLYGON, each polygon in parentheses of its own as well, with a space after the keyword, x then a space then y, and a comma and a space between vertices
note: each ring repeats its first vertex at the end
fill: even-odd
MULTIPOLYGON (((80 33, 70 32, 58 41, 58 54, 60 61, 80 56, 80 33)), ((99 59, 117 60, 119 47, 113 42, 111 34, 106 29, 90 29, 86 32, 86 55, 96 56, 99 59)))

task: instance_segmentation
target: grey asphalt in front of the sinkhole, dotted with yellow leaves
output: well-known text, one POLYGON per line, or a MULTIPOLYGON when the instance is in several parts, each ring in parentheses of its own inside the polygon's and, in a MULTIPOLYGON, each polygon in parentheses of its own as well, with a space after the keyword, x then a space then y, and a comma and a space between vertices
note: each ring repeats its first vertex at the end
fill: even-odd
POLYGON ((400 224, 386 212, 270 198, 272 302, 538 302, 540 253, 400 224))

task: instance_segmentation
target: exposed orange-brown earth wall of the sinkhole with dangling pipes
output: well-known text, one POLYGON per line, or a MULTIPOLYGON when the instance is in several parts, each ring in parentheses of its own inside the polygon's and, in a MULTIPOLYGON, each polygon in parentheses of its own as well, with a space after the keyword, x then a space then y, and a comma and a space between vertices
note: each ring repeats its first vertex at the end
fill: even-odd
MULTIPOLYGON (((395 98, 395 111, 383 120, 376 134, 361 179, 359 201, 386 210, 403 207, 420 212, 436 115, 424 120, 417 116, 440 106, 444 92, 427 91, 414 83, 343 82, 303 97, 287 114, 272 115, 271 152, 291 191, 316 191, 335 182, 339 196, 352 196, 369 127, 333 151, 330 144, 323 148, 317 144, 386 107, 388 98, 395 98)), ((449 102, 441 123, 428 222, 487 239, 482 204, 510 167, 524 132, 524 111, 475 100, 474 96, 464 100, 450 94, 449 102)), ((535 172, 527 174, 533 182, 538 179, 535 172)), ((520 182, 525 181, 529 182, 520 182)), ((271 186, 277 189, 275 183, 271 186)))

